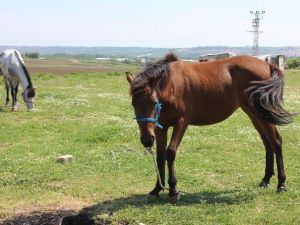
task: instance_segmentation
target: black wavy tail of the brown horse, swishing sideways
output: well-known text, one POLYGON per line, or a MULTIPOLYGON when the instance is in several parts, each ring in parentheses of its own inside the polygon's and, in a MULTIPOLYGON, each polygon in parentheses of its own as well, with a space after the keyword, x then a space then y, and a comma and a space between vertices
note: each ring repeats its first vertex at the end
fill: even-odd
POLYGON ((293 115, 283 109, 283 74, 280 69, 270 64, 271 77, 268 80, 252 81, 246 90, 249 104, 258 116, 275 125, 293 122, 293 115))

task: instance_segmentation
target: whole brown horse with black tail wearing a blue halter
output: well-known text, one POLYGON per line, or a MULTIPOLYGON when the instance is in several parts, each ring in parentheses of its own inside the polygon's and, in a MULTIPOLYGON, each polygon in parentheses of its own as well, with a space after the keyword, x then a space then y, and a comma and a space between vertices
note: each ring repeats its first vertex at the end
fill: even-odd
MULTIPOLYGON (((209 125, 228 118, 239 107, 249 116, 266 150, 267 187, 274 175, 274 154, 278 170, 277 192, 286 190, 282 140, 275 125, 292 122, 281 107, 283 75, 274 65, 250 56, 212 62, 183 62, 170 53, 147 66, 135 78, 127 74, 132 105, 145 147, 156 138, 157 165, 165 185, 165 162, 169 171, 169 196, 178 198, 174 160, 188 125, 209 125), (173 128, 167 147, 167 132, 173 128)), ((150 195, 159 196, 159 180, 150 195)))

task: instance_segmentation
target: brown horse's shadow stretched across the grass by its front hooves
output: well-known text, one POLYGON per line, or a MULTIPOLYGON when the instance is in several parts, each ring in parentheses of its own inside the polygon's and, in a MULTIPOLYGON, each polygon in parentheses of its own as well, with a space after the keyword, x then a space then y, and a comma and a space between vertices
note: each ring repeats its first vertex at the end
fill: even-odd
MULTIPOLYGON (((199 192, 181 194, 181 199, 176 206, 187 206, 195 204, 244 204, 255 199, 253 192, 221 191, 221 192, 199 192)), ((160 198, 149 197, 148 195, 132 195, 130 197, 121 197, 114 200, 103 201, 98 204, 83 208, 77 215, 65 217, 62 225, 93 225, 93 224, 110 224, 113 214, 128 207, 144 208, 148 206, 170 205, 166 193, 160 198), (92 218, 96 218, 94 221, 92 218), (84 219, 82 219, 84 218, 84 219), (78 221, 80 221, 78 223, 78 221)), ((119 221, 118 224, 129 224, 127 221, 119 221)))

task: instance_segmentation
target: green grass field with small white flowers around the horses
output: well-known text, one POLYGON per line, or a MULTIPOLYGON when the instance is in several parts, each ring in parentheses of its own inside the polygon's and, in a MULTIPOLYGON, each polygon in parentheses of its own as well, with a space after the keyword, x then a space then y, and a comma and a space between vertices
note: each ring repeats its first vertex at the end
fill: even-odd
MULTIPOLYGON (((285 74, 285 108, 300 112, 300 71, 285 74)), ((123 73, 32 79, 36 111, 20 102, 18 112, 0 113, 0 224, 43 224, 78 211, 99 224, 300 224, 299 116, 279 127, 288 192, 275 193, 276 177, 270 188, 257 187, 264 149, 238 110, 217 125, 189 127, 176 160, 178 188, 188 194, 171 205, 167 193, 147 198, 156 174, 139 143, 123 73), (74 160, 56 163, 64 154, 74 160)))

